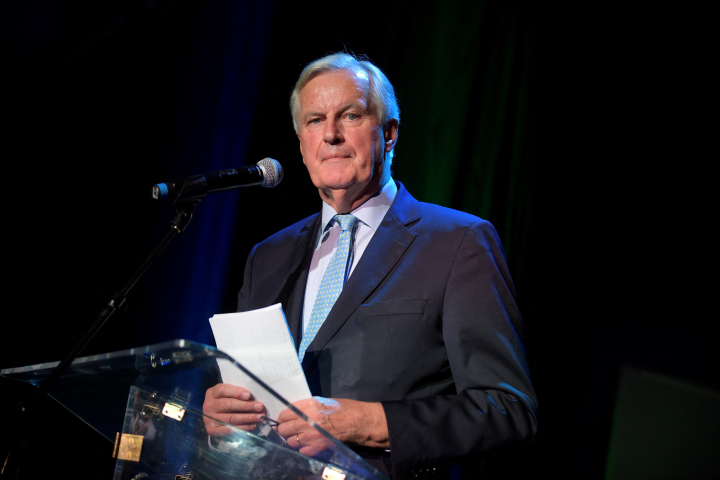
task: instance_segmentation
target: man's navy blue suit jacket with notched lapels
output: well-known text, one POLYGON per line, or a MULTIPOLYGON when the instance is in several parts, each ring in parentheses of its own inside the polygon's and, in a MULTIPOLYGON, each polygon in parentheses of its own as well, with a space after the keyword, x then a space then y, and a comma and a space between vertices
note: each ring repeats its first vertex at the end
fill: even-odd
MULTIPOLYGON (((320 215, 251 251, 238 310, 282 303, 296 347, 320 215)), ((394 478, 532 438, 535 393, 502 245, 478 217, 398 194, 303 370, 313 395, 382 402, 394 478)))

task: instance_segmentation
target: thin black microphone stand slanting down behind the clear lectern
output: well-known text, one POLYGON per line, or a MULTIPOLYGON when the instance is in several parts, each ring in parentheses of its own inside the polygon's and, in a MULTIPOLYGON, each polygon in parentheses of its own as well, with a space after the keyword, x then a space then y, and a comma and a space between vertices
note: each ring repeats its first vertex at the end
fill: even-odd
POLYGON ((28 437, 29 434, 35 430, 31 426, 33 410, 35 409, 35 407, 38 406, 39 401, 57 383, 63 373, 65 373, 65 371, 70 367, 70 365, 72 365, 72 362, 78 357, 78 355, 80 355, 80 352, 82 352, 88 345, 88 343, 90 343, 95 334, 100 331, 103 325, 105 325, 105 322, 107 322, 107 320, 112 316, 113 313, 117 311, 117 309, 123 306, 125 300, 127 299, 128 293, 130 293, 130 290, 132 290, 132 288, 135 286, 137 281, 140 280, 148 267, 150 267, 153 261, 158 257, 158 255, 160 255, 160 252, 162 252, 163 249, 167 246, 167 244, 170 243, 170 240, 175 238, 175 235, 182 233, 187 228, 190 220, 192 220, 192 215, 195 207, 198 206, 200 200, 204 196, 205 195, 203 195, 201 198, 196 198, 192 201, 181 204, 178 204, 176 202, 173 205, 175 207, 177 215, 170 222, 170 231, 165 235, 165 237, 160 241, 157 247, 155 247, 155 249, 145 259, 142 265, 140 265, 140 267, 135 271, 132 277, 130 277, 130 280, 127 281, 125 286, 115 292, 112 297, 110 297, 110 301, 102 310, 102 312, 100 312, 100 314, 97 316, 95 322, 85 332, 80 341, 75 344, 73 349, 68 352, 67 356, 65 356, 65 358, 60 362, 60 364, 55 367, 55 370, 53 370, 50 376, 43 382, 39 390, 35 392, 35 395, 32 395, 29 398, 25 398, 20 401, 19 407, 21 413, 19 421, 17 423, 17 425, 20 426, 18 442, 16 443, 14 448, 11 448, 8 451, 7 456, 3 460, 0 460, 0 478, 8 478, 13 473, 15 474, 15 478, 20 477, 21 467, 24 464, 23 450, 27 449, 29 440, 29 438, 26 437, 28 437))

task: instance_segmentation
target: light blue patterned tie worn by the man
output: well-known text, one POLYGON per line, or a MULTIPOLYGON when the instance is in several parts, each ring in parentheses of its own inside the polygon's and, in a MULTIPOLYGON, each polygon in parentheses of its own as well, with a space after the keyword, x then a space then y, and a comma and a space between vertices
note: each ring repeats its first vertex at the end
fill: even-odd
POLYGON ((313 312, 310 316, 310 323, 308 323, 303 335, 303 341, 300 343, 300 351, 298 352, 300 362, 305 356, 305 350, 312 343, 325 318, 330 313, 330 309, 335 305, 335 300, 340 295, 342 287, 345 285, 345 270, 350 255, 350 245, 352 244, 352 230, 357 218, 352 215, 335 215, 335 220, 340 224, 338 248, 335 250, 333 258, 330 259, 330 265, 325 270, 325 275, 323 275, 322 282, 320 282, 318 296, 315 299, 313 312))

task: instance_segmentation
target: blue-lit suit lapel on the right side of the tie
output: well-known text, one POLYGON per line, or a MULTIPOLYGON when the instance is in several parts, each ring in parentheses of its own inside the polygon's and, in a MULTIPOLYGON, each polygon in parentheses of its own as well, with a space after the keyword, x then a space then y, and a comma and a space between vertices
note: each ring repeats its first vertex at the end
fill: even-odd
MULTIPOLYGON (((325 345, 370 296, 400 260, 417 233, 407 227, 420 219, 420 205, 400 183, 390 210, 373 235, 353 274, 318 330, 305 357, 303 370, 315 361, 325 345)), ((307 278, 307 273, 305 274, 307 278)), ((303 284, 304 285, 304 284, 303 284)))

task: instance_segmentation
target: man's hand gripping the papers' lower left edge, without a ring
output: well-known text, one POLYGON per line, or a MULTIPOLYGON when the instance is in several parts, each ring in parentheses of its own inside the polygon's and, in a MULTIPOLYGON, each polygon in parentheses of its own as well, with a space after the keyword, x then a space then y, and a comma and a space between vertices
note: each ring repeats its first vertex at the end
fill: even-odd
POLYGON ((203 414, 206 415, 203 421, 208 434, 219 437, 231 433, 231 430, 215 420, 243 430, 255 430, 265 415, 265 407, 244 388, 219 383, 205 392, 203 414))

